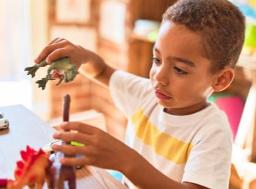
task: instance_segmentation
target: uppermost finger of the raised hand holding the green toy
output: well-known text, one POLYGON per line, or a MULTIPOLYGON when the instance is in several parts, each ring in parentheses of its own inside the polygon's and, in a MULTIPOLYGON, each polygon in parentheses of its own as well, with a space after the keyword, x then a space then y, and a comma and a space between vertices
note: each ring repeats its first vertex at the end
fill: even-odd
MULTIPOLYGON (((63 48, 64 45, 66 45, 66 41, 61 40, 58 43, 52 43, 51 45, 47 45, 46 47, 44 47, 44 49, 42 50, 42 52, 40 52, 39 56, 34 60, 36 63, 41 62, 42 60, 46 59, 46 57, 51 54, 52 52, 54 52, 54 50, 63 48)), ((49 63, 49 62, 48 62, 49 63)))

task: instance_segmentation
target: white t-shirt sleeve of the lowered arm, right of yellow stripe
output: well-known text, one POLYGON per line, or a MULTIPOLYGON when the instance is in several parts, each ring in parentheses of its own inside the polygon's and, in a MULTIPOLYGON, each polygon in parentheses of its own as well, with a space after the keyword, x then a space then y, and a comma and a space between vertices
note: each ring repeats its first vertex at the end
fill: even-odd
POLYGON ((213 189, 228 188, 232 137, 228 129, 216 129, 216 125, 208 128, 190 152, 182 181, 213 189))

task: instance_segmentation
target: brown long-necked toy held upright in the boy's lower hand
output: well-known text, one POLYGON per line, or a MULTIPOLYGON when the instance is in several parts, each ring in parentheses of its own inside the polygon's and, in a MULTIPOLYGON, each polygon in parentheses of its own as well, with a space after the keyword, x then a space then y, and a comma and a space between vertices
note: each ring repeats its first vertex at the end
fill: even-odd
MULTIPOLYGON (((64 96, 63 105, 63 122, 69 121, 69 111, 70 111, 70 95, 64 96)), ((69 130, 65 130, 69 131, 69 130)), ((62 142, 63 144, 70 144, 70 142, 62 142)), ((50 186, 52 189, 62 189, 64 188, 64 181, 68 181, 68 186, 70 189, 76 188, 75 171, 72 166, 64 166, 59 160, 63 157, 70 157, 63 152, 56 152, 54 156, 54 161, 50 168, 50 186)))

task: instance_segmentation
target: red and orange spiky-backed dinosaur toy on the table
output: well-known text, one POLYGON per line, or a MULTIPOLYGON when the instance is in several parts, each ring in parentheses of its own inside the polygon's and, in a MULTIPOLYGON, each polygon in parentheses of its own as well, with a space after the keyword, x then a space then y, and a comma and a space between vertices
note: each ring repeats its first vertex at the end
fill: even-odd
POLYGON ((0 188, 21 189, 27 185, 41 189, 51 166, 49 154, 46 154, 42 149, 35 151, 27 146, 27 150, 21 151, 20 155, 22 161, 16 163, 15 180, 0 180, 0 188))

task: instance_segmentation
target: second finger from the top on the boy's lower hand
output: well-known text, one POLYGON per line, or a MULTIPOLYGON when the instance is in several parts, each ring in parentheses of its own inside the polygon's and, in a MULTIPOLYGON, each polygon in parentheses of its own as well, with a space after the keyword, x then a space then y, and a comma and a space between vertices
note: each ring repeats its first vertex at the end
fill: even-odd
POLYGON ((91 136, 85 133, 73 132, 57 132, 53 135, 54 139, 64 140, 66 142, 79 142, 82 144, 90 144, 91 136))

